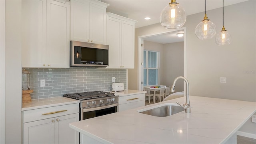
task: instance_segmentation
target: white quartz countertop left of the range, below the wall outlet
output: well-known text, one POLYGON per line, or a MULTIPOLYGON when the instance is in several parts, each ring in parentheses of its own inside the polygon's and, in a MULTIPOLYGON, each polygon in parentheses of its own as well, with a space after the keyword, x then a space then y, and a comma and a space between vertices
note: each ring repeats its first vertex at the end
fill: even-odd
POLYGON ((54 98, 42 98, 42 99, 36 99, 36 100, 32 100, 32 102, 22 104, 21 111, 33 110, 37 108, 46 108, 51 106, 61 106, 65 104, 75 104, 79 102, 80 100, 75 100, 72 98, 66 98, 62 96, 54 97, 54 98))

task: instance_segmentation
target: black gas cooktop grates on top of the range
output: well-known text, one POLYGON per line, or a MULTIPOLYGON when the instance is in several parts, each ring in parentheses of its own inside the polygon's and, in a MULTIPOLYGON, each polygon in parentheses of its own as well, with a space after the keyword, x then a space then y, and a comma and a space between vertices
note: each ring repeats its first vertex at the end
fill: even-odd
POLYGON ((112 92, 102 92, 102 91, 93 91, 93 92, 81 92, 75 94, 64 94, 64 97, 73 98, 76 100, 88 100, 100 97, 114 96, 112 92))

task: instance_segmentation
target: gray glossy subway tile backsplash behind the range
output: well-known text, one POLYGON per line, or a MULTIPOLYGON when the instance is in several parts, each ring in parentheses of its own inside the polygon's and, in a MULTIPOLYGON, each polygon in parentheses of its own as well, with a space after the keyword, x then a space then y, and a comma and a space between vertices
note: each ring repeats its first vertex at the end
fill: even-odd
POLYGON ((64 94, 89 91, 111 91, 112 77, 126 88, 126 69, 106 68, 26 68, 31 72, 32 99, 52 98, 64 94), (40 80, 46 86, 40 87, 40 80))

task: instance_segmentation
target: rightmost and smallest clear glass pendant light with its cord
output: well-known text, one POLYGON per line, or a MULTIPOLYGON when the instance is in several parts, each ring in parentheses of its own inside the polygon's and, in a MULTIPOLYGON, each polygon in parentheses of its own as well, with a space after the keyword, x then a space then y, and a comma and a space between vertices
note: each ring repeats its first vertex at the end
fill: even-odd
POLYGON ((223 0, 223 27, 220 32, 215 37, 216 44, 224 45, 224 44, 230 44, 231 42, 231 35, 227 32, 227 30, 224 27, 224 0, 223 0))

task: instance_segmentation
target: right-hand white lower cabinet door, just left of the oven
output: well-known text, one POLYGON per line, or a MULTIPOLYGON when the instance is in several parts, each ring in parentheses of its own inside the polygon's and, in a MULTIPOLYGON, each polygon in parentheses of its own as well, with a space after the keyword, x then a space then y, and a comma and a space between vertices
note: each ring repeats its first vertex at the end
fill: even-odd
POLYGON ((71 122, 79 121, 79 114, 59 116, 54 123, 54 144, 78 144, 79 133, 68 126, 71 122))

